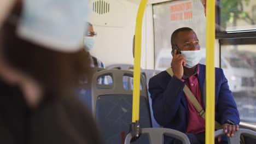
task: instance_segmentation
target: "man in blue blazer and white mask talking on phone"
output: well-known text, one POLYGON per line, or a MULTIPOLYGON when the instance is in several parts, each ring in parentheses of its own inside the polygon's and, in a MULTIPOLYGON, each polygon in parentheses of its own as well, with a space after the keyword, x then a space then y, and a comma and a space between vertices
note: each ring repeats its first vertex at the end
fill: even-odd
MULTIPOLYGON (((187 134, 191 143, 205 143, 205 119, 199 115, 183 91, 187 85, 205 108, 205 65, 199 64, 199 40, 191 28, 183 27, 173 32, 171 44, 173 76, 162 71, 149 81, 154 117, 162 127, 187 134)), ((227 136, 234 136, 240 123, 236 103, 223 70, 216 68, 215 74, 216 121, 222 125, 227 136)), ((220 140, 219 137, 219 142, 220 140)), ((180 141, 165 137, 165 143, 180 141)))

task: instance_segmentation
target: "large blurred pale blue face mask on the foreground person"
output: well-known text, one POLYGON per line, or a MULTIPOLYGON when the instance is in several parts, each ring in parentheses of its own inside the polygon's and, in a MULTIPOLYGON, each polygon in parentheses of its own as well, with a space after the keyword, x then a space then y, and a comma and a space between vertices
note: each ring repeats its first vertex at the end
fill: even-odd
POLYGON ((25 0, 18 26, 22 38, 62 52, 79 50, 88 0, 25 0))

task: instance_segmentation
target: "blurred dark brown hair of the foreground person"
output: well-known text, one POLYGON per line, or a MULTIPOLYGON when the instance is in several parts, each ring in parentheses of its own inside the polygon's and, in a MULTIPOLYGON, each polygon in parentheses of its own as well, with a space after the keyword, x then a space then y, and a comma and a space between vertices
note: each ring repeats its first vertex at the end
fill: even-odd
MULTIPOLYGON (((10 16, 20 17, 22 1, 18 1, 10 16)), ((16 34, 17 23, 8 19, 0 29, 3 56, 16 69, 30 75, 43 86, 45 91, 59 94, 75 87, 78 77, 90 77, 90 61, 87 52, 65 53, 20 38, 16 34)))

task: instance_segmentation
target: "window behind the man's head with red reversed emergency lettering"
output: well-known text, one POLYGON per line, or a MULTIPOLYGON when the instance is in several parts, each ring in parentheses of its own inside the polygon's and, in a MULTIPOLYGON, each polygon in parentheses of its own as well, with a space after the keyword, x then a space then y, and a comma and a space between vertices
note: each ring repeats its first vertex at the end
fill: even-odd
POLYGON ((201 0, 170 1, 153 4, 155 69, 170 67, 171 34, 178 28, 190 27, 197 34, 200 46, 206 47, 206 18, 201 0), (168 57, 167 57, 168 56, 168 57), (169 58, 169 59, 166 59, 169 58), (160 64, 160 61, 164 63, 160 64), (167 67, 162 68, 166 65, 167 67))

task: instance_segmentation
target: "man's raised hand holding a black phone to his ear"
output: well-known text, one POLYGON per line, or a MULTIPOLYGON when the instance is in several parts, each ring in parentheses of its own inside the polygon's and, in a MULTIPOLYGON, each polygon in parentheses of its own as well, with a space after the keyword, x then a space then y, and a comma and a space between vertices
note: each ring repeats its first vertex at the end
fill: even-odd
POLYGON ((186 65, 186 59, 183 55, 177 54, 177 50, 173 53, 173 58, 171 62, 171 67, 173 71, 173 75, 176 76, 178 79, 182 79, 184 70, 183 66, 186 65))

